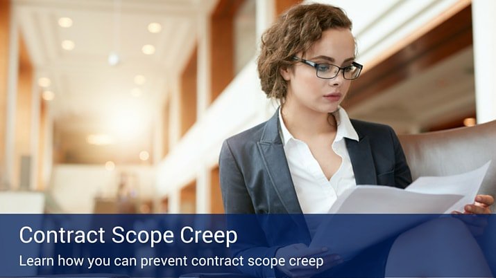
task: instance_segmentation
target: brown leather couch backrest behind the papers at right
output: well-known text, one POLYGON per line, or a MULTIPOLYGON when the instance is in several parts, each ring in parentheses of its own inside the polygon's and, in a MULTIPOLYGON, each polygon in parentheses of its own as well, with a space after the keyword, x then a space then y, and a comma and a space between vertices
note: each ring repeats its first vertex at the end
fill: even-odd
POLYGON ((413 180, 419 176, 460 174, 493 160, 479 193, 496 196, 496 120, 474 127, 398 137, 413 180))

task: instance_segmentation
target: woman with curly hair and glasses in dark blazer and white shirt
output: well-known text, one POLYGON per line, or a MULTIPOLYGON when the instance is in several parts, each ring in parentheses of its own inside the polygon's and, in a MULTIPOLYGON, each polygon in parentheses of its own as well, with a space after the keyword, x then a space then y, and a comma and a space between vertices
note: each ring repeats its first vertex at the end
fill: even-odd
MULTIPOLYGON (((309 4, 294 6, 264 33, 258 59, 262 90, 281 106, 267 122, 225 140, 219 165, 226 213, 325 214, 358 184, 411 183, 393 129, 350 120, 340 106, 362 68, 354 61, 351 28, 340 8, 309 4)), ((476 199, 465 213, 490 213, 493 197, 476 199)), ((313 234, 316 226, 308 223, 308 229, 313 234)), ((275 257, 323 252, 305 244, 269 245, 276 245, 266 250, 275 257)), ((387 256, 375 256, 383 274, 387 256)), ((327 268, 341 262, 335 255, 325 259, 327 268)), ((311 268, 279 270, 291 277, 314 274, 311 268)))

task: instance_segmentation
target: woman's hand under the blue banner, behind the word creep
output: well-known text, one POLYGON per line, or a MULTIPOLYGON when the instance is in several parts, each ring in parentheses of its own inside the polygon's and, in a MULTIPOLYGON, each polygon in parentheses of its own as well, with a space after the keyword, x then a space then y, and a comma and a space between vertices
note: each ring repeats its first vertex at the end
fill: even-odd
POLYGON ((284 272, 288 277, 312 277, 319 272, 323 272, 332 268, 333 266, 342 263, 343 260, 338 254, 329 254, 327 248, 309 248, 303 243, 296 243, 284 246, 277 249, 275 257, 278 259, 284 258, 284 266, 277 266, 277 268, 284 272), (291 258, 311 258, 320 257, 323 259, 323 266, 316 268, 316 266, 291 266, 289 259, 291 258))

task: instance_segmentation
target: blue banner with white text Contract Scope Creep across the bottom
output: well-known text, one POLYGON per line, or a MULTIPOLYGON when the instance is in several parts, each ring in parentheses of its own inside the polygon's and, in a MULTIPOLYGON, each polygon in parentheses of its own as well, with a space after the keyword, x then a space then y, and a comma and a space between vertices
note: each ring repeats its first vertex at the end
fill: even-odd
POLYGON ((313 277, 496 274, 494 214, 0 214, 0 223, 0 277, 285 277, 290 264, 313 277), (296 243, 327 251, 275 257, 296 243), (343 263, 330 268, 323 257, 334 254, 343 263))

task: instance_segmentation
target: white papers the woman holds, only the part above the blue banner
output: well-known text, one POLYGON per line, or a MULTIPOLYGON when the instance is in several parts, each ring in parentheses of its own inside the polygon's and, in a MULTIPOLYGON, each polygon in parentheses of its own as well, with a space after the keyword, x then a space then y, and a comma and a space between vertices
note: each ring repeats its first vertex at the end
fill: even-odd
POLYGON ((425 176, 406 189, 359 185, 338 197, 329 213, 443 214, 473 203, 490 161, 474 171, 453 176, 425 176))

